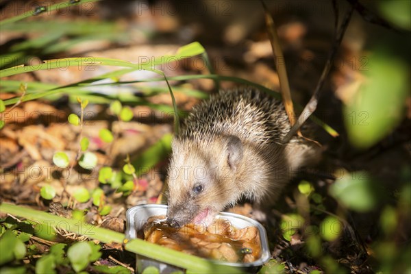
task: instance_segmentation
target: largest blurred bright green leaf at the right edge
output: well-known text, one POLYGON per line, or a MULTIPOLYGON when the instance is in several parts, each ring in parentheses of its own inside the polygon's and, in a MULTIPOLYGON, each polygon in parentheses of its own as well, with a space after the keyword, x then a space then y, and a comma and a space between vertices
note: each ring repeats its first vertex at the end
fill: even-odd
POLYGON ((409 67, 403 60, 375 51, 364 57, 364 81, 343 108, 349 141, 367 149, 386 137, 405 115, 410 92, 409 67))

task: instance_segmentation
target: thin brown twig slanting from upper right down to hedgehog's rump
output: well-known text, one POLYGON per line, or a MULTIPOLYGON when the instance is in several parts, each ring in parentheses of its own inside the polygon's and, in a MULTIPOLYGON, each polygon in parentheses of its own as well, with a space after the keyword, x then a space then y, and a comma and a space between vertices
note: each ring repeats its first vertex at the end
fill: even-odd
POLYGON ((353 14, 353 11, 355 10, 356 4, 354 3, 351 5, 349 8, 348 12, 345 14, 345 18, 343 20, 343 23, 338 30, 338 34, 336 37, 336 40, 334 40, 334 44, 332 46, 331 51, 329 52, 329 56, 327 58, 327 63, 325 64, 325 67, 323 69, 323 73, 321 74, 321 78, 319 80, 319 83, 316 86, 316 89, 314 90, 314 94, 312 95, 310 101, 308 101, 306 107, 304 108, 303 112, 301 112, 301 115, 299 116, 297 123, 293 125, 290 129, 290 132, 284 137, 282 140, 283 143, 287 143, 290 141, 292 136, 295 135, 295 133, 299 130, 301 125, 303 125, 304 122, 307 121, 308 117, 311 116, 311 114, 316 110, 317 103, 319 101, 320 97, 320 90, 323 87, 323 84, 325 82, 325 78, 327 77, 329 70, 331 69, 332 65, 332 60, 334 60, 334 57, 337 53, 338 47, 340 47, 341 41, 343 40, 345 30, 347 29, 347 26, 349 24, 349 21, 351 19, 351 16, 353 14))

